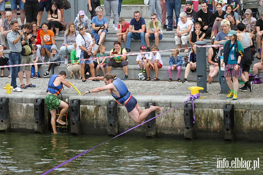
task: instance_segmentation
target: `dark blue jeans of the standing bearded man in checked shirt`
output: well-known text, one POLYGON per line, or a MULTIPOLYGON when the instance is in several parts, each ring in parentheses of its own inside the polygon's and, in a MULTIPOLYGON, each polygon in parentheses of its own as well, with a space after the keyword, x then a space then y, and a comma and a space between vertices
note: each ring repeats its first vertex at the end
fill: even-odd
MULTIPOLYGON (((21 56, 21 54, 10 52, 9 53, 9 61, 11 62, 11 65, 21 64, 22 56, 21 56)), ((20 71, 20 66, 12 67, 12 69, 13 70, 12 70, 12 75, 11 75, 11 86, 13 86, 13 88, 15 89, 15 88, 17 88, 16 77, 18 75, 18 72, 20 71)))

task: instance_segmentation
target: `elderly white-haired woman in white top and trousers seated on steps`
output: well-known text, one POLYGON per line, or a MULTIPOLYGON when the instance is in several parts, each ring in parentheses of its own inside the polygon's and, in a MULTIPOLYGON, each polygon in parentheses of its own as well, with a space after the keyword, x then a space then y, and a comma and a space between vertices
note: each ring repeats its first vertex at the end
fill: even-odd
MULTIPOLYGON (((174 40, 175 44, 178 45, 179 52, 181 52, 181 41, 185 48, 187 48, 187 42, 190 38, 190 32, 193 31, 193 21, 187 19, 187 15, 185 12, 180 13, 179 17, 181 18, 181 20, 178 22, 178 27, 176 30, 176 36, 174 37, 174 40)), ((188 49, 185 49, 184 53, 188 53, 188 49)))

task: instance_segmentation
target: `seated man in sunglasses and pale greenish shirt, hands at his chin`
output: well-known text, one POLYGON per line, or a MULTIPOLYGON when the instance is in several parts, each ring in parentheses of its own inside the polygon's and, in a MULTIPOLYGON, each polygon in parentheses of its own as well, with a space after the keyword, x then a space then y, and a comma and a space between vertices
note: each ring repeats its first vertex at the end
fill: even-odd
POLYGON ((158 47, 159 40, 162 39, 162 23, 158 21, 157 15, 155 13, 151 14, 151 20, 147 24, 147 29, 145 33, 146 42, 146 52, 150 52, 150 39, 155 40, 155 45, 158 47))

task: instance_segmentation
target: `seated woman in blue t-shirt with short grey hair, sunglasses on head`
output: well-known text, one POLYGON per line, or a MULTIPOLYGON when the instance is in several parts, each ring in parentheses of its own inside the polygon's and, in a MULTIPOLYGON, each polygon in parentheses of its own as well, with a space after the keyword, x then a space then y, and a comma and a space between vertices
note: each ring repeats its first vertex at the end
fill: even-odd
POLYGON ((93 34, 96 43, 102 45, 107 34, 108 23, 107 19, 102 16, 103 9, 100 6, 95 11, 98 15, 93 17, 90 22, 92 26, 91 34, 93 34))

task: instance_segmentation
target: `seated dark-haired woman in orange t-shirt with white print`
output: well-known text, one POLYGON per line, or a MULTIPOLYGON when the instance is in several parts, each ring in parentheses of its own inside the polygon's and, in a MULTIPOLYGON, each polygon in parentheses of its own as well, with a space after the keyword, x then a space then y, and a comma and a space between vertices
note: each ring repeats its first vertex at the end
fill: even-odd
POLYGON ((39 32, 41 39, 41 55, 42 60, 45 60, 45 55, 47 54, 50 58, 51 46, 56 44, 54 32, 48 29, 46 22, 43 22, 42 30, 39 32))

